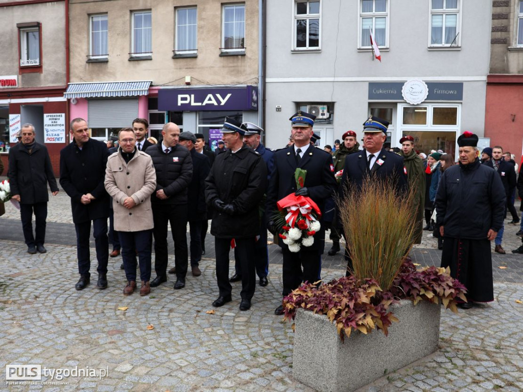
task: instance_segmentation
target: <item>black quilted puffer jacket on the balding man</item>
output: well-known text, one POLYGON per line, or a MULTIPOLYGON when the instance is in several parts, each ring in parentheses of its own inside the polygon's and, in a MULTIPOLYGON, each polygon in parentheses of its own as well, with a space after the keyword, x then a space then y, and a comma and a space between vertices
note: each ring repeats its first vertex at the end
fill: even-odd
POLYGON ((163 152, 162 143, 151 145, 145 151, 151 155, 156 170, 156 190, 151 196, 153 204, 187 204, 187 188, 192 178, 192 159, 183 145, 177 144, 168 154, 163 152), (162 200, 156 192, 164 190, 168 196, 162 200))

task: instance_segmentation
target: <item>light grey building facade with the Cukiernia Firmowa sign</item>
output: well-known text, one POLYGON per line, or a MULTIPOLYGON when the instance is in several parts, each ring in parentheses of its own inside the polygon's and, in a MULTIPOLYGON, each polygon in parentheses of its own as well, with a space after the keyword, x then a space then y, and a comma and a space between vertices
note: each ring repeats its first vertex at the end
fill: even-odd
POLYGON ((392 147, 412 135, 454 153, 462 131, 484 134, 491 17, 489 0, 269 0, 266 144, 283 147, 301 109, 322 147, 349 129, 361 139, 374 115, 392 147))

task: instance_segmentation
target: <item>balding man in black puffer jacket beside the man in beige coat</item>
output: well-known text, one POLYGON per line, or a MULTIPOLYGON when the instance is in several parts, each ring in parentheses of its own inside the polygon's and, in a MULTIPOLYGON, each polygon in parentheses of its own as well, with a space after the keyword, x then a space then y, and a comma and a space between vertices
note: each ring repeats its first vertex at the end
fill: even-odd
POLYGON ((162 129, 163 140, 145 151, 153 159, 156 170, 156 192, 151 197, 154 219, 154 271, 151 287, 167 282, 167 225, 174 241, 176 263, 175 289, 185 287, 187 275, 187 188, 192 178, 192 159, 180 145, 180 128, 167 122, 162 129))

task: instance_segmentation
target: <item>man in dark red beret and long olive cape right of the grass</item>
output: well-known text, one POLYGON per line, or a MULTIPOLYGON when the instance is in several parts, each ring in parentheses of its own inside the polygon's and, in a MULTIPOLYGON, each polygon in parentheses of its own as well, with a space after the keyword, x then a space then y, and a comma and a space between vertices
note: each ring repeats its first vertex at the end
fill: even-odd
POLYGON ((422 243, 423 236, 423 216, 425 206, 425 173, 423 168, 423 161, 414 150, 414 138, 406 135, 400 139, 401 151, 403 156, 403 164, 405 165, 405 172, 408 179, 408 188, 415 189, 414 205, 416 206, 416 230, 414 232, 414 243, 422 243))

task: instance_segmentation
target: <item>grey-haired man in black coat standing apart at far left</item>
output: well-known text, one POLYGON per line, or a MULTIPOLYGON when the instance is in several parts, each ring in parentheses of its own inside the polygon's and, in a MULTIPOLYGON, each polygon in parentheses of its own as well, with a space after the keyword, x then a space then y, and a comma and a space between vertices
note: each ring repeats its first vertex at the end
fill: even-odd
POLYGON ((7 176, 13 199, 20 203, 20 217, 27 252, 46 253, 43 243, 46 239, 47 184, 53 196, 58 194, 58 186, 53 174, 49 152, 45 145, 35 141, 35 127, 24 124, 20 130, 22 142, 9 150, 9 170, 7 176), (35 236, 32 231, 32 215, 35 212, 35 236))

